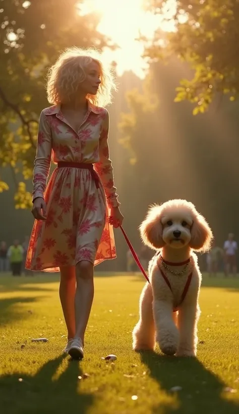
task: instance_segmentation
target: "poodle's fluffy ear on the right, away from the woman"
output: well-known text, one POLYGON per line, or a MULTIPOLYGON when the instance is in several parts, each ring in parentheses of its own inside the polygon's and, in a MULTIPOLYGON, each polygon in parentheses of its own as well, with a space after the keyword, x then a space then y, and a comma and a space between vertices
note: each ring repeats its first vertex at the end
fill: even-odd
POLYGON ((190 247, 195 251, 206 252, 210 250, 213 239, 212 231, 201 214, 195 214, 191 228, 190 247))

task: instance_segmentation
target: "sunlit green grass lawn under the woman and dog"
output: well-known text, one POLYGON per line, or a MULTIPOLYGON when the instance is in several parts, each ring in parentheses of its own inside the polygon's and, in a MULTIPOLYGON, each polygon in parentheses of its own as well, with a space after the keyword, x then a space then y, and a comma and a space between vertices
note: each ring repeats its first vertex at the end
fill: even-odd
POLYGON ((139 275, 95 278, 85 358, 78 363, 62 355, 58 276, 0 276, 1 412, 238 414, 239 279, 204 277, 197 359, 132 350, 143 284, 139 275), (40 336, 49 342, 31 342, 40 336), (114 365, 101 359, 109 353, 117 355, 114 365), (84 373, 90 377, 79 380, 84 373), (182 390, 172 393, 173 386, 182 390))

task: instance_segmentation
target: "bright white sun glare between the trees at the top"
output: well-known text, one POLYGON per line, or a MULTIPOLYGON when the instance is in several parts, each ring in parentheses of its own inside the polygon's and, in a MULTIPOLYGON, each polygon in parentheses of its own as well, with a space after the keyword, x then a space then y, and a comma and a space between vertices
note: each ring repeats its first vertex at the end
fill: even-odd
MULTIPOLYGON (((154 15, 143 9, 144 0, 85 0, 79 4, 79 13, 95 12, 100 15, 97 30, 110 37, 118 45, 117 50, 104 50, 104 57, 117 63, 117 73, 132 70, 139 77, 145 76, 147 63, 143 60, 143 44, 139 35, 152 38, 154 31, 174 29, 173 21, 165 22, 165 15, 154 15)), ((175 0, 169 0, 169 15, 175 10, 175 0)))

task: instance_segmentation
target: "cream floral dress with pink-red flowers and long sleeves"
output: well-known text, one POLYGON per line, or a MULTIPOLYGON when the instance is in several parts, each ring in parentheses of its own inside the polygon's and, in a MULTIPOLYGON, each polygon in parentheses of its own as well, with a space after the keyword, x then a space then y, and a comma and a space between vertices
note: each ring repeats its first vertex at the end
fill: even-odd
MULTIPOLYGON (((35 220, 27 251, 26 269, 57 272, 82 260, 97 265, 116 257, 108 209, 119 205, 108 149, 108 112, 88 101, 88 111, 76 132, 60 106, 42 111, 33 172, 33 199, 44 197, 46 220, 35 220), (55 168, 54 163, 89 163, 90 170, 55 168), (98 187, 98 188, 97 188, 98 187), (107 202, 106 202, 107 201, 107 202)), ((68 164, 69 165, 69 164, 68 164)))

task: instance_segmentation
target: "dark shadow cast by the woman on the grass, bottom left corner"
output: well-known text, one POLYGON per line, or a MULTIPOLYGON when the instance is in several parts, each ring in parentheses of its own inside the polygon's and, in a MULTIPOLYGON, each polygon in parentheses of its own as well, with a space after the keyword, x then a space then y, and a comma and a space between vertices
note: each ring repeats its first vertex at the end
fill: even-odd
POLYGON ((81 383, 87 379, 78 379, 83 377, 79 363, 63 359, 64 356, 60 356, 48 361, 34 377, 24 374, 2 376, 1 406, 5 414, 84 414, 94 397, 81 393, 81 383), (65 371, 54 378, 62 363, 65 371))

